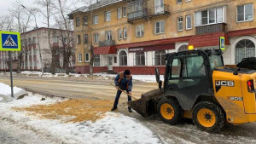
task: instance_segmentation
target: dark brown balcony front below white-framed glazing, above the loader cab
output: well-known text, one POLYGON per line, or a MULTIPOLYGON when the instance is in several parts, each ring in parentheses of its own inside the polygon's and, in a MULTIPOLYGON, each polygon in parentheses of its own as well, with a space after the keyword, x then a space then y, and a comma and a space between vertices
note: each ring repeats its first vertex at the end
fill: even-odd
POLYGON ((195 27, 195 34, 201 35, 201 34, 207 34, 212 32, 225 32, 226 24, 213 24, 213 25, 207 25, 207 26, 196 26, 195 27))

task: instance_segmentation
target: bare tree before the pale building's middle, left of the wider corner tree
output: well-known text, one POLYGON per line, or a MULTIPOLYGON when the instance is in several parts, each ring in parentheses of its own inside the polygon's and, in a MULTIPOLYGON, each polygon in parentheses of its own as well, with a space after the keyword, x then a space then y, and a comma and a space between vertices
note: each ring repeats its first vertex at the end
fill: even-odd
POLYGON ((50 70, 51 74, 55 74, 55 56, 56 56, 56 47, 53 47, 51 44, 50 39, 50 26, 49 26, 49 20, 50 18, 55 14, 55 11, 53 9, 54 3, 53 0, 36 0, 36 4, 40 7, 38 11, 44 16, 44 18, 47 20, 47 28, 48 28, 48 44, 51 52, 51 64, 50 64, 50 70))

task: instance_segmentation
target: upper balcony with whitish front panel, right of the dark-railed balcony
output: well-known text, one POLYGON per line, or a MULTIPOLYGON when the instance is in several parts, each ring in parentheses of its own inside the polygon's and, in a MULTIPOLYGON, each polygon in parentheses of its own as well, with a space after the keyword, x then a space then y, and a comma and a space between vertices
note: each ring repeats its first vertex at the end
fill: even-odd
POLYGON ((150 9, 148 11, 149 17, 154 17, 158 15, 167 15, 170 14, 169 5, 161 4, 158 6, 154 6, 154 9, 150 9))

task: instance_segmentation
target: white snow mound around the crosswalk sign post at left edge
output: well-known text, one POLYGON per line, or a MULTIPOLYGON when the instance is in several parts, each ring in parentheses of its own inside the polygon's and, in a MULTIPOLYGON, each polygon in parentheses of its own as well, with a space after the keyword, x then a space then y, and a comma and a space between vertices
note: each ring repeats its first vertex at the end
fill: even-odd
POLYGON ((0 101, 13 101, 13 99, 17 99, 21 95, 26 95, 26 90, 14 87, 14 98, 12 98, 11 87, 7 84, 0 83, 0 101))

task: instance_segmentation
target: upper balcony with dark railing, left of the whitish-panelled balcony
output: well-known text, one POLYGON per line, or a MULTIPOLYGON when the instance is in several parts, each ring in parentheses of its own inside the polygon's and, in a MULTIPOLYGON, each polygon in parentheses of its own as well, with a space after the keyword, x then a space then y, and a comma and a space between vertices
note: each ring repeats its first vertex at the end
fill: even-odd
POLYGON ((134 20, 142 20, 148 19, 148 9, 143 9, 143 10, 137 10, 131 13, 128 13, 128 22, 131 23, 134 20))

